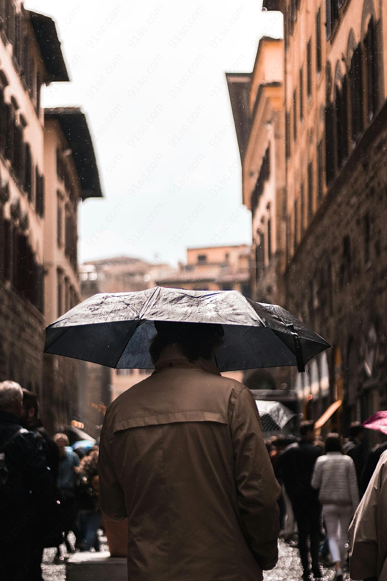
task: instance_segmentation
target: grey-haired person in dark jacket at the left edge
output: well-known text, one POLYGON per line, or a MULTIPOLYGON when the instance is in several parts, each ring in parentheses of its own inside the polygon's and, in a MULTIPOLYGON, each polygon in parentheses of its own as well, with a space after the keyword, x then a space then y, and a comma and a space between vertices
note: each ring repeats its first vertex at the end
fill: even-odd
POLYGON ((7 581, 40 581, 31 536, 51 478, 41 439, 21 427, 22 406, 19 383, 0 383, 0 563, 7 581))

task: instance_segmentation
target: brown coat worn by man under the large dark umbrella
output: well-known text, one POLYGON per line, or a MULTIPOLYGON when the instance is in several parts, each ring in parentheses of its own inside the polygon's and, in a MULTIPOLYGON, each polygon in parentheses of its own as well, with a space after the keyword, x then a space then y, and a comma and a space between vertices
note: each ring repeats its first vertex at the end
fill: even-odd
POLYGON ((258 581, 278 558, 280 486, 251 392, 187 360, 122 393, 100 438, 100 501, 128 516, 130 581, 258 581))

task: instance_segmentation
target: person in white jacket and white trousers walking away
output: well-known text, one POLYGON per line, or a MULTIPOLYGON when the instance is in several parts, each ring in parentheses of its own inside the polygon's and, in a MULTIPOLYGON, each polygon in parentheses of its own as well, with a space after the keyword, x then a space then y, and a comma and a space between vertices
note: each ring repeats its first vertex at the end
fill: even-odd
POLYGON ((342 581, 346 560, 348 528, 359 504, 355 464, 342 453, 342 438, 331 433, 325 440, 325 455, 317 458, 312 487, 319 490, 323 505, 329 548, 335 563, 337 581, 342 581))

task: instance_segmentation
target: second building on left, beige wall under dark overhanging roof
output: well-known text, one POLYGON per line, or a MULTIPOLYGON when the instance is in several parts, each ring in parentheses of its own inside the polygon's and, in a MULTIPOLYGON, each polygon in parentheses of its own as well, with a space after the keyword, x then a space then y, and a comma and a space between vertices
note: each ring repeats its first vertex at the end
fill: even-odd
MULTIPOLYGON (((99 198, 102 189, 91 135, 78 107, 45 109, 45 319, 55 321, 81 300, 77 260, 78 203, 99 198)), ((42 409, 60 428, 78 417, 77 360, 46 354, 42 409)), ((80 396, 82 397, 82 396, 80 396)))

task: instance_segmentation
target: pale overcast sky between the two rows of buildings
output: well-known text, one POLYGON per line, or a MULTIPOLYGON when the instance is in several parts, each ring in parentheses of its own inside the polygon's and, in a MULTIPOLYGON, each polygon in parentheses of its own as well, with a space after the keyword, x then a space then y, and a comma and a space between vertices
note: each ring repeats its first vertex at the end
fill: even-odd
POLYGON ((251 71, 261 35, 281 35, 261 0, 24 2, 53 17, 70 83, 44 106, 78 105, 104 192, 79 212, 79 260, 176 263, 192 246, 249 243, 225 71, 251 71))

